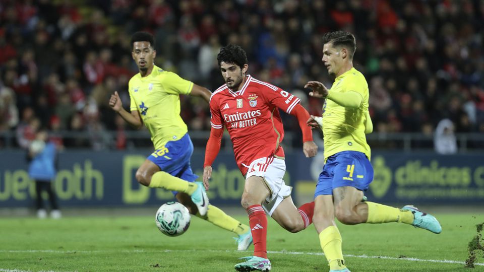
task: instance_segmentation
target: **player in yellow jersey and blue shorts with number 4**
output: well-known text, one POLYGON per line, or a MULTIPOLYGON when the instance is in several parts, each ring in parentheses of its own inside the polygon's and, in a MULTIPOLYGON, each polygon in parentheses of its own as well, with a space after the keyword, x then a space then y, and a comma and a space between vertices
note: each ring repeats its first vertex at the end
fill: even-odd
POLYGON ((322 127, 325 165, 316 185, 313 223, 331 271, 349 271, 341 251, 341 235, 334 217, 343 224, 401 222, 440 233, 435 217, 413 206, 402 209, 362 202, 373 180, 370 147, 365 137, 373 130, 368 112, 368 84, 353 67, 356 42, 351 33, 336 31, 323 36, 323 63, 336 79, 327 89, 310 81, 310 96, 326 99, 323 116, 311 116, 308 124, 322 127))

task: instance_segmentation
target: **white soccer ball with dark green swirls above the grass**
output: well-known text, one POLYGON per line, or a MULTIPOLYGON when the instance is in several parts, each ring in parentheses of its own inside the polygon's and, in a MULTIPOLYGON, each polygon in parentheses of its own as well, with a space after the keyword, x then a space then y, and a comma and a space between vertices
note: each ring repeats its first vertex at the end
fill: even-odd
POLYGON ((156 212, 155 222, 163 234, 178 236, 190 227, 190 213, 179 202, 166 202, 156 212))

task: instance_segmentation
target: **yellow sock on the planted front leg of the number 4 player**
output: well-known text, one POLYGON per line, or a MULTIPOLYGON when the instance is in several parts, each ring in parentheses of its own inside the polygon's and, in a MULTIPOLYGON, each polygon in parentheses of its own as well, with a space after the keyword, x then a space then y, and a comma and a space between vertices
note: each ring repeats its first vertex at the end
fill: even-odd
POLYGON ((336 226, 329 226, 319 234, 319 242, 329 262, 330 270, 346 268, 341 249, 342 238, 336 226))

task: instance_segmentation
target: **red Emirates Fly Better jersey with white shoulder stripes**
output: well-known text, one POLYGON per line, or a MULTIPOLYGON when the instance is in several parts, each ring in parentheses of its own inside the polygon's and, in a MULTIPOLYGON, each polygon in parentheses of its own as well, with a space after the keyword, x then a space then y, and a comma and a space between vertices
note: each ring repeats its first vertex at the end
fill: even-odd
POLYGON ((251 76, 239 91, 223 85, 210 97, 211 124, 225 126, 233 143, 235 161, 243 175, 256 159, 284 157, 284 138, 279 109, 291 113, 300 99, 251 76))

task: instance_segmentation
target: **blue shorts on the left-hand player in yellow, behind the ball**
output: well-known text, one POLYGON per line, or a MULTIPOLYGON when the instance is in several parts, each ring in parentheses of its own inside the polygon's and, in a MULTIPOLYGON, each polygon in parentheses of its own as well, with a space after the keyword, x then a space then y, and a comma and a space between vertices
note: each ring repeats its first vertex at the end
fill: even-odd
MULTIPOLYGON (((192 171, 190 159, 193 154, 193 144, 190 136, 184 135, 178 141, 170 141, 161 149, 155 150, 147 158, 161 169, 172 176, 194 182, 198 176, 192 171)), ((177 191, 172 191, 176 195, 177 191)))

